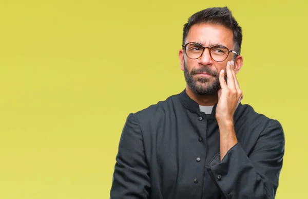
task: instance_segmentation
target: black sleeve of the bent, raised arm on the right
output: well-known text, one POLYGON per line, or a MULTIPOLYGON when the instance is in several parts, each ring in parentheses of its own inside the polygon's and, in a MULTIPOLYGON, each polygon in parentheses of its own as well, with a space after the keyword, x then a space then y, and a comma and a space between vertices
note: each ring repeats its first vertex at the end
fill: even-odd
POLYGON ((237 143, 221 162, 217 154, 206 169, 224 198, 274 199, 284 144, 282 126, 273 120, 260 134, 249 157, 237 143))

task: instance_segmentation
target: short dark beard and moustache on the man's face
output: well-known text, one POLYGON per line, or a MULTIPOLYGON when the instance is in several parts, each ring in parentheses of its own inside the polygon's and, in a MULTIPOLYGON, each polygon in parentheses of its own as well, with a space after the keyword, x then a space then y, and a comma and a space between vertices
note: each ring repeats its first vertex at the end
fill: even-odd
MULTIPOLYGON (((217 71, 210 70, 208 67, 201 67, 198 69, 193 68, 189 72, 184 61, 184 77, 191 91, 199 95, 214 95, 217 94, 221 88, 219 82, 219 73, 217 71), (195 75, 199 73, 207 73, 208 75, 211 75, 211 77, 195 77, 195 75)), ((227 82, 226 73, 224 79, 227 82)))

